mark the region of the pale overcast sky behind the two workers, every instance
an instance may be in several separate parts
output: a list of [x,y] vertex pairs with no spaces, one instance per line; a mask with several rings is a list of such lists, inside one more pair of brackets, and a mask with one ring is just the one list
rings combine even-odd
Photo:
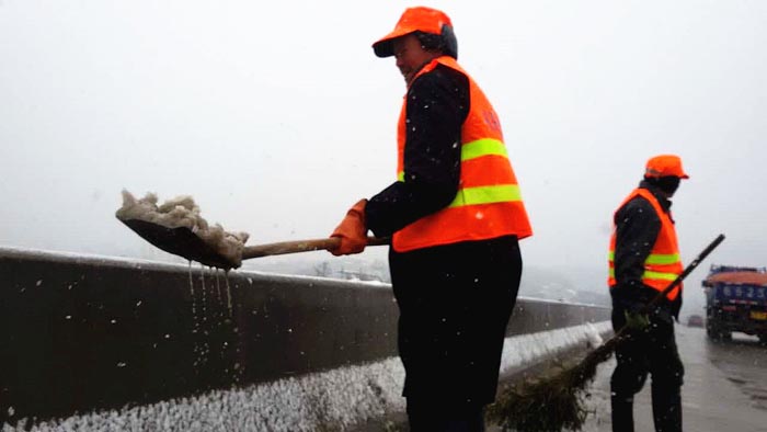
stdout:
[[[0,0],[0,246],[146,255],[122,189],[250,245],[327,236],[394,179],[404,82],[370,45],[414,4]],[[686,261],[724,232],[706,269],[767,265],[767,2],[424,4],[501,117],[526,264],[606,271],[613,212],[674,152]]]

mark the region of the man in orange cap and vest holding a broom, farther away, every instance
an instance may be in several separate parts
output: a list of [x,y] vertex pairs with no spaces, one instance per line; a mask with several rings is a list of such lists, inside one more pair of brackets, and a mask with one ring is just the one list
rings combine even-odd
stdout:
[[652,408],[656,431],[682,431],[684,367],[674,339],[674,319],[682,307],[682,285],[651,310],[649,305],[683,272],[669,198],[688,179],[674,155],[651,158],[644,180],[615,212],[608,285],[613,328],[628,326],[616,350],[610,380],[613,430],[633,431],[633,396],[652,374]]

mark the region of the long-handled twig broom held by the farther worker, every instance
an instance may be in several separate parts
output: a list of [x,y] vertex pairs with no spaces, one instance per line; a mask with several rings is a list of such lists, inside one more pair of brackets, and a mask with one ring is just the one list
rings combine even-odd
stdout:
[[[649,311],[666,294],[674,289],[714,248],[724,240],[719,235],[663,292],[659,293],[644,311]],[[586,420],[583,407],[585,386],[594,379],[596,368],[613,355],[628,331],[623,326],[618,332],[596,350],[589,352],[581,363],[570,368],[561,368],[558,374],[523,382],[503,389],[497,401],[486,410],[488,420],[499,424],[504,431],[557,432],[563,429],[577,431]]]

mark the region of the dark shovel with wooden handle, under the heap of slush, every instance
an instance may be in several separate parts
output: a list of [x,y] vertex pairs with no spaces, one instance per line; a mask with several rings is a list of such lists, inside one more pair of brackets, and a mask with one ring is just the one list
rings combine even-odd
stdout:
[[[141,219],[119,219],[141,238],[174,255],[190,261],[197,261],[224,270],[237,269],[242,260],[251,258],[279,255],[286,253],[330,250],[339,246],[341,239],[330,237],[312,240],[283,241],[277,243],[245,246],[239,260],[226,257],[206,243],[190,228],[168,228],[165,226]],[[388,238],[368,237],[368,246],[388,245]]]

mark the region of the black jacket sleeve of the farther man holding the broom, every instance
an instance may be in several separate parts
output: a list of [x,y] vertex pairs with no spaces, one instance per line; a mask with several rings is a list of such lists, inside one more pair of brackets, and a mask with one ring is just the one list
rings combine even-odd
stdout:
[[637,196],[616,212],[615,225],[616,286],[610,293],[618,305],[636,310],[656,293],[642,283],[642,273],[661,231],[661,219],[650,202]]

